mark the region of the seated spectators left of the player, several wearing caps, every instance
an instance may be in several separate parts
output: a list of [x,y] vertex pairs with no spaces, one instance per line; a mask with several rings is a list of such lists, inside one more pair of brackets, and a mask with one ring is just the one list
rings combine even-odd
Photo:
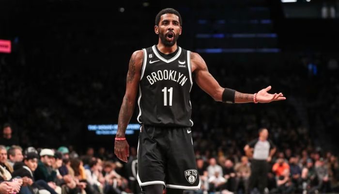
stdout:
[[66,146],[57,149],[30,146],[23,150],[12,145],[17,139],[12,136],[10,125],[4,126],[3,134],[0,139],[4,144],[0,146],[0,194],[138,193],[134,178],[136,163],[133,162],[136,152],[133,150],[130,162],[123,166],[105,150],[95,156],[93,148],[88,148],[81,156]]

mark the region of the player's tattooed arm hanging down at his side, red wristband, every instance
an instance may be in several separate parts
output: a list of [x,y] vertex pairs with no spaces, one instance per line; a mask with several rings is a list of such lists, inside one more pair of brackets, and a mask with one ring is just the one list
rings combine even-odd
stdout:
[[[133,115],[135,101],[138,92],[138,85],[140,81],[140,70],[142,67],[143,60],[143,51],[135,51],[128,65],[128,73],[126,79],[126,92],[123,97],[123,103],[120,108],[119,118],[118,118],[118,131],[116,138],[124,138],[125,131],[131,117]],[[115,140],[114,145],[115,155],[122,160],[127,162],[127,157],[129,156],[129,145],[126,140]]]

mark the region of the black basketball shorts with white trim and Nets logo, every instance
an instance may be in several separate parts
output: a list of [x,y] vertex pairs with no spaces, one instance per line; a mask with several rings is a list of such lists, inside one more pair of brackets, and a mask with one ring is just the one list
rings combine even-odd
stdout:
[[138,182],[183,190],[200,189],[190,128],[141,125],[138,145]]

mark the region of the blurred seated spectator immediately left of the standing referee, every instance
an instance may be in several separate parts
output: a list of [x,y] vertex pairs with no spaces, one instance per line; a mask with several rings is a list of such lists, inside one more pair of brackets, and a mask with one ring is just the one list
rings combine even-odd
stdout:
[[234,193],[238,193],[240,185],[243,186],[244,193],[247,193],[249,176],[251,175],[251,168],[248,163],[248,158],[246,156],[241,157],[241,162],[235,165],[234,170],[236,173]]

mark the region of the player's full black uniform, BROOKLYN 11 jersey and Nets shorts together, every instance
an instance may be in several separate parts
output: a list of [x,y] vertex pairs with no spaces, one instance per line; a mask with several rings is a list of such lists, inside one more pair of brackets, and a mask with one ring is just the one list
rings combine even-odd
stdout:
[[142,50],[137,118],[141,124],[139,185],[200,189],[190,129],[190,51],[178,47],[165,55],[155,45]]

